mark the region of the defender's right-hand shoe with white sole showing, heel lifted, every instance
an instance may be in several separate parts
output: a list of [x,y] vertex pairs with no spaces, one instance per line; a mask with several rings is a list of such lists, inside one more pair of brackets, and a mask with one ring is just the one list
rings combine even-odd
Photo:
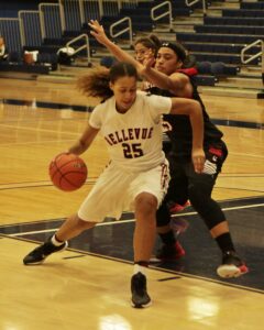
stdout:
[[222,264],[217,268],[218,275],[223,278],[239,277],[248,272],[245,263],[234,251],[223,253]]

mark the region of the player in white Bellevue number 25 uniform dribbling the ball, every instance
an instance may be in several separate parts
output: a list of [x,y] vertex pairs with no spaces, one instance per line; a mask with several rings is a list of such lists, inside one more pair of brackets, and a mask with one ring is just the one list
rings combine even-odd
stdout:
[[147,307],[145,270],[156,233],[156,210],[166,194],[169,172],[162,151],[162,114],[187,114],[193,128],[193,162],[204,168],[204,121],[197,101],[150,96],[136,91],[133,65],[119,63],[108,69],[91,70],[79,81],[87,96],[100,97],[79,141],[68,152],[82,154],[100,132],[106,140],[110,164],[98,178],[78,212],[69,217],[44,244],[28,254],[25,265],[40,264],[51,253],[67,248],[67,240],[103,221],[119,219],[122,211],[135,213],[134,275],[131,279],[132,306]]

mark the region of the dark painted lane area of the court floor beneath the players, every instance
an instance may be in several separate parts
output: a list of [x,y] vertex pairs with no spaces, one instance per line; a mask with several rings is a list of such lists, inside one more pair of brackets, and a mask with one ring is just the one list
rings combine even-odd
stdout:
[[[264,198],[248,198],[221,202],[229,219],[230,230],[239,254],[246,261],[250,273],[240,278],[222,279],[216,268],[221,262],[221,253],[202,220],[188,208],[182,219],[188,224],[179,235],[186,250],[186,256],[167,263],[156,263],[155,267],[170,273],[204,277],[222,284],[240,285],[248,289],[263,290],[263,251],[264,251]],[[133,215],[124,213],[123,221],[106,222],[86,231],[69,242],[69,248],[78,250],[80,255],[92,253],[102,257],[133,261],[132,240],[134,230]],[[40,221],[18,226],[0,227],[0,233],[21,239],[43,242],[63,220]],[[155,249],[158,249],[157,239]],[[63,257],[63,255],[62,255]],[[77,256],[78,257],[78,256]],[[172,277],[173,278],[173,277]]]

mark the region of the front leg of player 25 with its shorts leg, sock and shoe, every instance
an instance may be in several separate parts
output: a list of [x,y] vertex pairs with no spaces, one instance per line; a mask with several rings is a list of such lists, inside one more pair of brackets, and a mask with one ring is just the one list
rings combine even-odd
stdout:
[[131,195],[134,196],[135,213],[134,275],[131,278],[131,302],[135,308],[151,305],[146,288],[146,268],[156,237],[156,210],[167,190],[168,180],[168,166],[163,164],[139,175],[130,187]]

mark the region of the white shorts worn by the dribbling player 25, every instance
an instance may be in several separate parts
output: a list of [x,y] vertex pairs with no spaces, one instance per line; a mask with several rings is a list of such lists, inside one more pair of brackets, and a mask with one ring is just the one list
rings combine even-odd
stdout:
[[101,222],[106,217],[120,219],[123,211],[134,211],[134,199],[141,193],[154,195],[160,206],[168,182],[167,160],[142,173],[125,173],[110,164],[80,206],[78,217],[91,222]]

